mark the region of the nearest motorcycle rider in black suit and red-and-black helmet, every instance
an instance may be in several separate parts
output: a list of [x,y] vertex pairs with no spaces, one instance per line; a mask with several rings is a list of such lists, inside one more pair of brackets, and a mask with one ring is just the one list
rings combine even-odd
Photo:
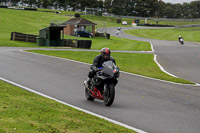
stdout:
[[93,64],[90,67],[91,70],[89,71],[88,79],[84,81],[84,83],[86,84],[87,87],[89,87],[90,81],[92,80],[92,78],[94,77],[96,72],[101,70],[101,69],[99,69],[99,67],[102,67],[102,64],[105,61],[111,60],[116,65],[115,59],[112,56],[110,56],[110,54],[111,54],[111,51],[109,48],[102,48],[101,54],[97,55],[94,58]]

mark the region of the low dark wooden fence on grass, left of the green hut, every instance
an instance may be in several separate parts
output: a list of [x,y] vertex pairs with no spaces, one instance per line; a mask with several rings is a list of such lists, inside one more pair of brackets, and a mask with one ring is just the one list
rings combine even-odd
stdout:
[[38,36],[31,35],[31,34],[19,33],[19,32],[11,32],[10,40],[36,43],[36,37],[38,37]]

